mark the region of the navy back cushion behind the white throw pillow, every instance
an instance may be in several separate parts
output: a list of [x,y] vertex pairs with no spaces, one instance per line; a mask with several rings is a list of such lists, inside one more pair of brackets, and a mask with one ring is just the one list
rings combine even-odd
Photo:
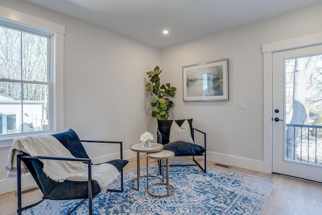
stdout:
[[[170,129],[172,125],[173,120],[157,120],[157,128],[159,129],[160,133],[162,134],[162,144],[169,143],[169,136],[170,136]],[[176,123],[179,127],[185,122],[185,120],[176,120]],[[192,119],[188,119],[188,123],[190,125],[190,132],[192,140],[194,140],[194,130],[192,127]]]

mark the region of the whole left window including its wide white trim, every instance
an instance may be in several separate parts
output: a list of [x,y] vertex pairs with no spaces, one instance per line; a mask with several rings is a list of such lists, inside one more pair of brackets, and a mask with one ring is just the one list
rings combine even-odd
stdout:
[[65,27],[1,6],[0,14],[0,141],[62,131]]

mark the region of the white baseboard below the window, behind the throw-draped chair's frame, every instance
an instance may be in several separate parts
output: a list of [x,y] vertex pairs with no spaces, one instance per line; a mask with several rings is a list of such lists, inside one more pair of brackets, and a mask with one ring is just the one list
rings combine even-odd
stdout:
[[[26,174],[21,177],[21,188],[36,185],[36,182],[31,174]],[[17,190],[17,178],[6,178],[0,180],[0,194]]]

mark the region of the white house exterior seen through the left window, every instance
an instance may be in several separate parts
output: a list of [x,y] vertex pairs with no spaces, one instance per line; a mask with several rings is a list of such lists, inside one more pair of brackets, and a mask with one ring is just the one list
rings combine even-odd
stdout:
[[[23,100],[23,110],[21,102],[0,94],[0,135],[47,129],[47,120],[42,117],[45,101]],[[23,119],[23,125],[20,119]]]

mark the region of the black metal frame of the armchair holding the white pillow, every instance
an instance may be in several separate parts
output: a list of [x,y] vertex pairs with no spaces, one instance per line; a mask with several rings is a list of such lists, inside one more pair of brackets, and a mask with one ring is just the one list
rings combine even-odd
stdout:
[[[193,130],[194,131],[197,131],[197,132],[200,132],[201,134],[203,134],[204,135],[204,146],[203,147],[205,147],[205,148],[207,148],[206,146],[207,146],[207,138],[206,138],[206,133],[205,132],[202,132],[202,131],[200,131],[200,130],[198,130],[198,129],[195,129],[195,128],[193,128]],[[160,130],[159,129],[156,129],[156,134],[157,134],[157,142],[158,143],[162,143],[162,134],[161,134],[161,132],[160,132]],[[196,164],[171,164],[171,165],[169,165],[169,166],[199,166],[200,167],[200,169],[204,172],[204,173],[206,173],[207,172],[207,154],[206,154],[206,152],[207,151],[205,151],[202,155],[175,155],[176,157],[187,157],[187,156],[192,156],[192,159],[193,159],[193,161],[196,163]],[[200,165],[200,163],[198,162],[198,161],[196,161],[196,159],[195,159],[195,156],[204,156],[204,165],[205,165],[205,167],[204,168],[202,168],[202,166]],[[161,160],[159,160],[158,161],[158,166],[159,166],[159,172],[160,172],[160,174],[161,174],[161,166],[162,166],[162,164],[161,164]]]

